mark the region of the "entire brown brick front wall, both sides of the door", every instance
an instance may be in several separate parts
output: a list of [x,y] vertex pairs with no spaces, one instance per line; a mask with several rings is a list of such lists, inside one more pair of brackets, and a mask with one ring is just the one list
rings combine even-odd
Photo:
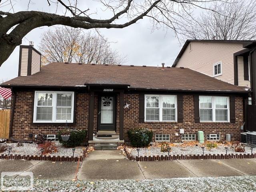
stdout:
[[[33,92],[17,92],[16,105],[14,113],[14,121],[12,127],[12,137],[22,140],[30,139],[28,134],[57,134],[64,126],[58,125],[33,125]],[[116,108],[116,130],[119,132],[119,107],[120,97],[117,95]],[[243,99],[236,97],[236,123],[218,123],[204,122],[194,123],[194,97],[185,95],[183,98],[183,123],[177,122],[138,122],[139,116],[139,95],[125,94],[124,102],[130,102],[129,110],[124,110],[124,138],[127,141],[127,130],[130,128],[145,127],[153,130],[154,134],[170,134],[172,142],[181,140],[180,136],[175,136],[179,133],[180,128],[184,128],[186,134],[195,134],[198,130],[204,131],[204,134],[221,134],[221,139],[224,140],[225,134],[234,134],[232,139],[240,139],[240,126],[243,124]],[[69,128],[88,129],[88,114],[89,114],[89,94],[78,93],[76,102],[76,125]],[[94,130],[97,130],[97,113],[98,113],[98,95],[94,98]],[[206,138],[206,137],[205,137]],[[154,138],[153,138],[154,140]]]

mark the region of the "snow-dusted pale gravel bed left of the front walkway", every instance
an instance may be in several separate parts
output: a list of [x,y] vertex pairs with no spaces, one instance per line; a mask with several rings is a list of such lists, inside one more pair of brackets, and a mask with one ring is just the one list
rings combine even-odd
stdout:
[[[19,155],[41,155],[40,149],[36,143],[23,143],[23,146],[17,146],[17,143],[7,143],[8,146],[12,146],[10,154]],[[59,142],[55,142],[58,152],[52,153],[51,156],[73,156],[72,148],[65,148]],[[8,154],[8,149],[3,154]],[[82,147],[76,147],[74,157],[81,156],[83,153]],[[0,153],[2,154],[2,153]]]

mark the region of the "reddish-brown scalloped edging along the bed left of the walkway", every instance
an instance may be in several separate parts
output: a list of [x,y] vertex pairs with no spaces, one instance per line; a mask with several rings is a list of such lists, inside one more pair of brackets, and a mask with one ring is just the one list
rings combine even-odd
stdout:
[[66,157],[66,156],[46,156],[46,155],[18,155],[18,154],[10,154],[4,155],[1,154],[0,159],[13,159],[13,160],[44,160],[44,161],[83,161],[84,155],[79,157]]

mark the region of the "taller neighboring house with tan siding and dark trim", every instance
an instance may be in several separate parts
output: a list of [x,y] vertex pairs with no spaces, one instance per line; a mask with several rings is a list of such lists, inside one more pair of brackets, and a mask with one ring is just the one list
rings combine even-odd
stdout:
[[[248,87],[252,95],[244,103],[256,104],[255,48],[255,41],[187,40],[172,67],[190,68],[230,84]],[[246,106],[244,108],[246,111]]]

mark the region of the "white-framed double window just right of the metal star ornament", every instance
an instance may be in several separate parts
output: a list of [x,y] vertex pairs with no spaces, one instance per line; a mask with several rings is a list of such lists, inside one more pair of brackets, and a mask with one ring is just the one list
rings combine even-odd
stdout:
[[145,121],[177,121],[176,95],[145,95]]

